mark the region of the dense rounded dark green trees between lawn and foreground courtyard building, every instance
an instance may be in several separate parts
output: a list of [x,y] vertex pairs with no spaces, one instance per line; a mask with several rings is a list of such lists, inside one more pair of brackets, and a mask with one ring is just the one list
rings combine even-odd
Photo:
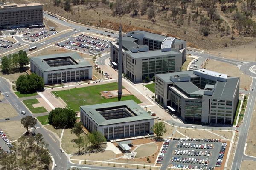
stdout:
[[69,128],[76,123],[76,113],[67,108],[55,108],[49,113],[49,123],[54,127]]

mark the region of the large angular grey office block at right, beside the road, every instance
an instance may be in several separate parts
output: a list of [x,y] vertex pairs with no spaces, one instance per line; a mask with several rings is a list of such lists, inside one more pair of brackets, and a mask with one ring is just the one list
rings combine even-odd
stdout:
[[181,119],[232,124],[239,102],[239,77],[206,69],[157,74],[155,97]]

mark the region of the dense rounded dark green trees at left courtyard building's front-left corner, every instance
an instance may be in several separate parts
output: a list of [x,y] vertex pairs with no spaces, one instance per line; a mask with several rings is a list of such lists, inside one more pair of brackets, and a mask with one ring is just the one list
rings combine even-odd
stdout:
[[44,81],[42,77],[34,73],[30,75],[21,75],[16,81],[16,89],[22,94],[42,91],[44,90]]

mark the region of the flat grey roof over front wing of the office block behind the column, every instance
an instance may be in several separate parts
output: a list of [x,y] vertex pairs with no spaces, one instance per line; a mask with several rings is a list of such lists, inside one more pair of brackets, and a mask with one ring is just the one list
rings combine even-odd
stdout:
[[151,51],[142,51],[142,52],[136,52],[133,53],[131,51],[125,51],[127,54],[129,54],[133,58],[144,58],[144,57],[160,57],[165,55],[176,55],[181,54],[179,51],[177,51],[175,48],[172,48],[171,51],[162,52],[160,50],[151,50]]

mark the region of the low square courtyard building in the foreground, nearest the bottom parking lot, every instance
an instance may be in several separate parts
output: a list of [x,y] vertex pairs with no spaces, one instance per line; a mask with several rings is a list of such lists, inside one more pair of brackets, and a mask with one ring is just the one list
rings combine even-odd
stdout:
[[154,118],[133,100],[81,106],[80,111],[87,130],[99,131],[106,139],[152,133]]

